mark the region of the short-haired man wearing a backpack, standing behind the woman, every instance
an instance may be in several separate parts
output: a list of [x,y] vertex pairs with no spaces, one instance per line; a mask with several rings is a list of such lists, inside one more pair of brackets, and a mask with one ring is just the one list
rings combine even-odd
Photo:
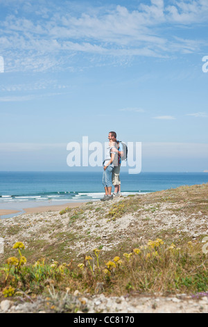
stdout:
[[116,132],[110,131],[112,141],[117,143],[117,149],[114,150],[118,155],[114,159],[114,168],[112,170],[112,184],[114,185],[113,196],[121,196],[121,180],[120,180],[120,168],[121,157],[123,157],[123,145],[116,140]]

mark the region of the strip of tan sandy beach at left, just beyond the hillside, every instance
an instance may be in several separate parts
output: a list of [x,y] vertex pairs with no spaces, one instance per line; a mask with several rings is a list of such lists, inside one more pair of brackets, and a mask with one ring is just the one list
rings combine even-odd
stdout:
[[[36,214],[40,212],[60,212],[62,209],[66,207],[74,208],[83,205],[83,202],[69,202],[64,203],[64,205],[49,205],[43,207],[32,207],[32,208],[23,208],[26,214]],[[10,210],[10,209],[0,209],[0,216],[6,216],[9,214],[17,214],[21,212],[21,210]]]

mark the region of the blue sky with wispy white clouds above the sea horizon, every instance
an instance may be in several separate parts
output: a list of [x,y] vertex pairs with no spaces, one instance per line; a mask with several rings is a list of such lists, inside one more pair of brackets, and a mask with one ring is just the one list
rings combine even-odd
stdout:
[[0,170],[92,170],[67,144],[109,131],[208,170],[207,26],[207,0],[0,0]]

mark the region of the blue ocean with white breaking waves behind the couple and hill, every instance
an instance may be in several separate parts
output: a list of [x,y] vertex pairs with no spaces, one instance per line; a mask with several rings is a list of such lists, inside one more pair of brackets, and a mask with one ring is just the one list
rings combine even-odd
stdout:
[[[121,171],[120,178],[121,193],[128,196],[207,183],[208,173],[129,175]],[[102,172],[0,172],[0,209],[22,211],[28,207],[100,200],[103,194]]]

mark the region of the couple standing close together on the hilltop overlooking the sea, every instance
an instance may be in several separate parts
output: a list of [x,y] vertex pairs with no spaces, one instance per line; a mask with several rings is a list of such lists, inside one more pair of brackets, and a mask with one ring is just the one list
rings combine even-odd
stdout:
[[[105,160],[103,161],[103,186],[105,196],[101,201],[112,200],[114,196],[121,195],[121,181],[119,177],[121,167],[121,157],[123,157],[123,145],[116,140],[116,132],[110,131],[108,134],[109,143],[105,148]],[[112,192],[114,185],[114,193]]]

